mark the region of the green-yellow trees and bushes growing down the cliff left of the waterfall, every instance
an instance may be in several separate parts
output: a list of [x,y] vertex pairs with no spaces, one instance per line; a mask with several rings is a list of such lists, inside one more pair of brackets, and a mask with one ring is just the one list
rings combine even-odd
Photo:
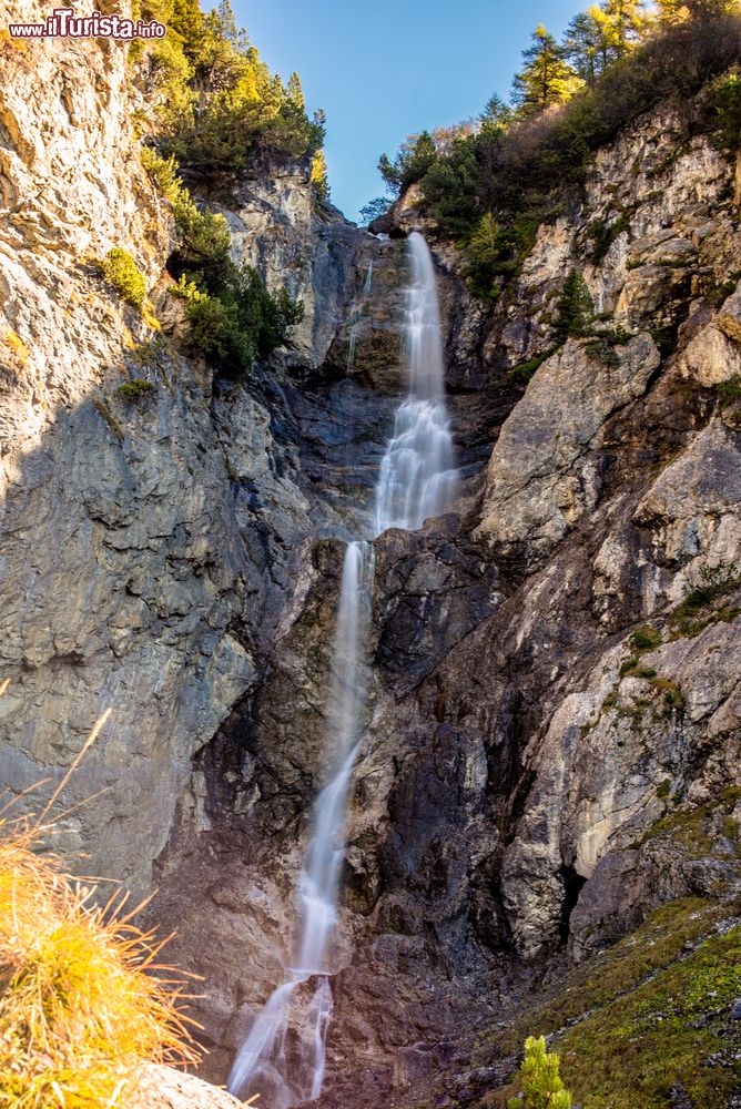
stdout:
[[199,206],[180,174],[213,183],[244,174],[261,156],[307,159],[314,193],[326,200],[324,118],[308,119],[297,74],[284,85],[270,73],[229,0],[205,13],[199,0],[135,0],[135,8],[168,26],[165,39],[132,49],[151,105],[139,122],[158,147],[145,146],[142,161],[171,202],[179,234],[169,269],[185,303],[187,342],[221,376],[240,380],[255,358],[290,344],[303,307],[232,261],[226,221]]

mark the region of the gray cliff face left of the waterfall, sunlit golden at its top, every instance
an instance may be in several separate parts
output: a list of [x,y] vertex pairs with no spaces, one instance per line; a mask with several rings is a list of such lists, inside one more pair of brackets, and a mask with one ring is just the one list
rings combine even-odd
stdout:
[[[367,496],[362,475],[334,499],[316,489],[323,467],[341,485],[345,411],[380,428],[388,404],[349,381],[298,394],[288,374],[324,360],[363,250],[380,244],[316,210],[305,166],[245,183],[235,253],[306,299],[306,329],[250,390],[214,395],[210,372],[179,354],[162,276],[172,220],[141,167],[121,52],[58,42],[38,65],[20,48],[6,62],[0,781],[20,792],[59,777],[111,708],[65,795],[84,804],[63,841],[139,895],[193,756],[295,618],[304,539],[354,526]],[[162,335],[98,276],[112,246],[145,274]],[[152,393],[122,399],[134,377]],[[369,446],[380,450],[373,431]]]

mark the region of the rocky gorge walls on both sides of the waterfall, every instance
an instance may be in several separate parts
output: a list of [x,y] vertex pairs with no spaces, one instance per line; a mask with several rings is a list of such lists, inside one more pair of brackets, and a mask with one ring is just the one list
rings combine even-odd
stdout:
[[[317,203],[307,166],[256,169],[222,207],[235,256],[306,316],[244,386],[214,383],[169,292],[172,218],[121,48],[42,49],[2,42],[0,781],[59,777],[113,708],[60,846],[159,887],[223,1081],[288,952],[338,540],[363,527],[402,387],[404,245]],[[672,898],[732,914],[734,174],[672,112],[640,121],[494,308],[433,243],[460,511],[376,543],[322,1105],[418,1105],[445,1074],[473,1102],[471,1036],[544,975]],[[420,224],[414,196],[396,220]],[[615,232],[598,261],[596,222]],[[159,330],[98,275],[111,246],[146,275]],[[552,348],[572,269],[603,335],[522,390],[510,370]],[[153,394],[123,400],[142,376]]]

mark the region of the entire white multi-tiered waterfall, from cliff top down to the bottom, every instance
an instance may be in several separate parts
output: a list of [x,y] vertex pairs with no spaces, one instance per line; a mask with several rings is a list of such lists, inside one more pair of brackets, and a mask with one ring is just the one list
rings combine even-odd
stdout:
[[[435,268],[422,235],[408,240],[408,395],[396,413],[380,466],[375,535],[414,529],[445,511],[455,492],[453,438],[445,405],[443,342]],[[370,292],[368,269],[364,299]],[[332,940],[345,847],[347,794],[363,739],[375,552],[347,543],[332,651],[326,736],[327,784],[314,805],[312,834],[298,879],[301,933],[294,966],[256,1017],[230,1075],[232,1093],[260,1092],[265,1109],[291,1109],[322,1092],[332,1019]],[[262,1105],[261,1100],[261,1105]]]

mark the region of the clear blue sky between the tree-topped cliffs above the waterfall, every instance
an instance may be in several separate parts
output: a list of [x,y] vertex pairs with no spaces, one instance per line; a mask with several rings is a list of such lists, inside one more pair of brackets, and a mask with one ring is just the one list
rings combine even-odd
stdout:
[[[542,22],[560,34],[579,0],[232,0],[274,71],[296,70],[327,113],[332,200],[349,218],[383,192],[378,155],[409,133],[478,114],[507,95]],[[209,4],[210,7],[210,4]]]

